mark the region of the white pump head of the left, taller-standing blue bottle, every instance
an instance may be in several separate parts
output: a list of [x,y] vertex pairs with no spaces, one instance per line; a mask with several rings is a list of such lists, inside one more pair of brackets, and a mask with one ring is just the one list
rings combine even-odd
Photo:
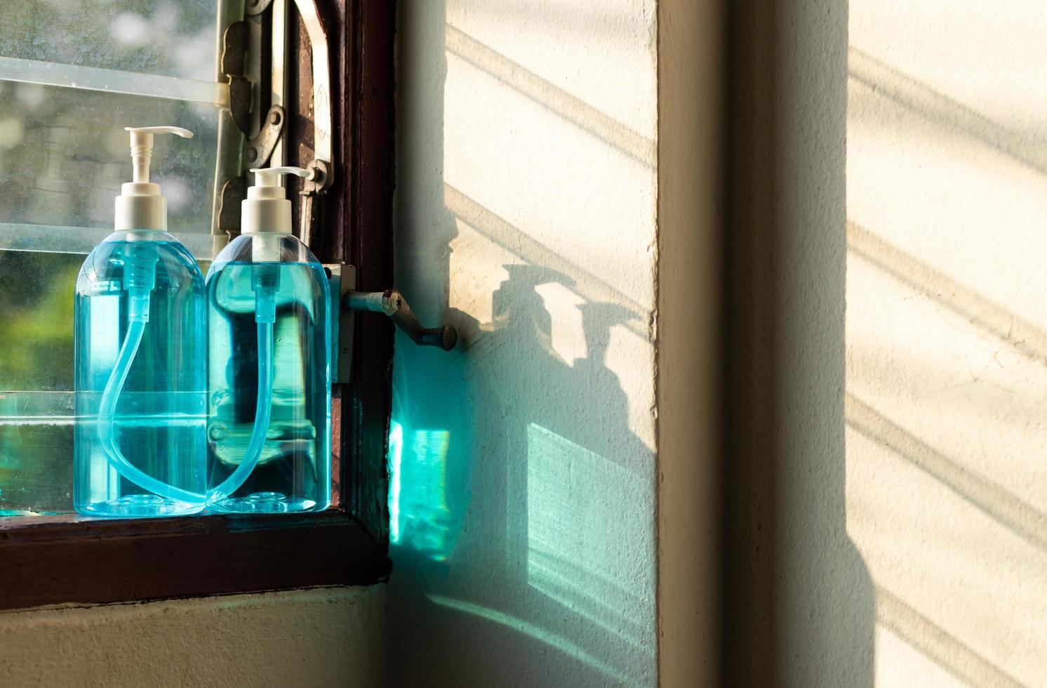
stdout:
[[153,134],[176,134],[193,138],[193,132],[181,127],[125,127],[131,132],[133,181],[120,186],[116,197],[116,231],[168,228],[168,201],[160,196],[160,185],[149,181],[149,163],[153,157]]

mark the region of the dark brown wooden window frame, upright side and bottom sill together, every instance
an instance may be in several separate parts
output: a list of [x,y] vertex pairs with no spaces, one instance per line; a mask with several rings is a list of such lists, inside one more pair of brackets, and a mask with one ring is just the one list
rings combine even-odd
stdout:
[[[332,56],[336,181],[317,254],[357,267],[357,289],[392,286],[395,3],[318,0]],[[308,40],[289,24],[288,151],[310,159]],[[297,125],[295,125],[297,123]],[[389,572],[385,444],[393,325],[356,314],[353,383],[333,398],[334,507],[319,514],[92,520],[0,519],[0,609],[65,602],[364,585]]]

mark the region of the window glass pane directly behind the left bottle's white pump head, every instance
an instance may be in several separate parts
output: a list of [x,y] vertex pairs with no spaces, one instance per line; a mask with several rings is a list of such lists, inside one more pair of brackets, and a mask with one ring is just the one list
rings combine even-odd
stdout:
[[155,138],[151,181],[168,199],[171,231],[210,232],[214,105],[0,81],[0,247],[39,231],[9,225],[112,230],[113,198],[131,181],[124,127],[146,125],[194,132]]

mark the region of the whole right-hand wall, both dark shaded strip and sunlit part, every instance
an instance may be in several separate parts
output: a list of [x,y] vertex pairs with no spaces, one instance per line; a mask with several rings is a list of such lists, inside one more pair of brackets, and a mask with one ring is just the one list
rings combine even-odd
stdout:
[[729,674],[1044,685],[1047,13],[731,25]]

